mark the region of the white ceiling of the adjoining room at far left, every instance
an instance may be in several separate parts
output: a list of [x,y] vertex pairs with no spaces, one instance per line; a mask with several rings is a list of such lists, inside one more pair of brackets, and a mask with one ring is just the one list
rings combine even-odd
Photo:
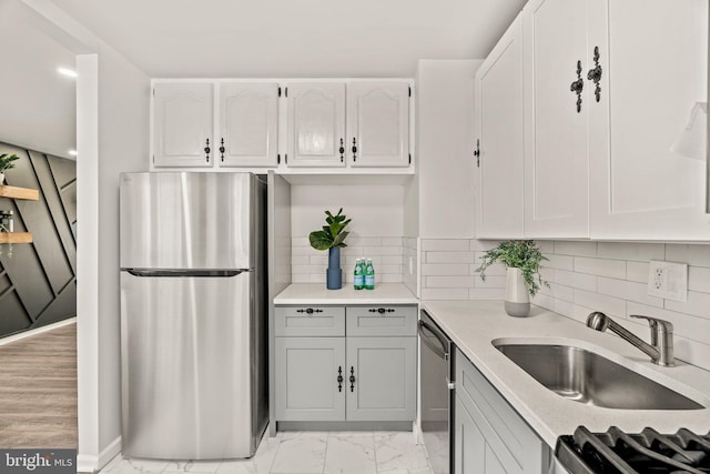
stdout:
[[0,141],[58,157],[75,149],[74,53],[33,27],[20,0],[0,1]]

